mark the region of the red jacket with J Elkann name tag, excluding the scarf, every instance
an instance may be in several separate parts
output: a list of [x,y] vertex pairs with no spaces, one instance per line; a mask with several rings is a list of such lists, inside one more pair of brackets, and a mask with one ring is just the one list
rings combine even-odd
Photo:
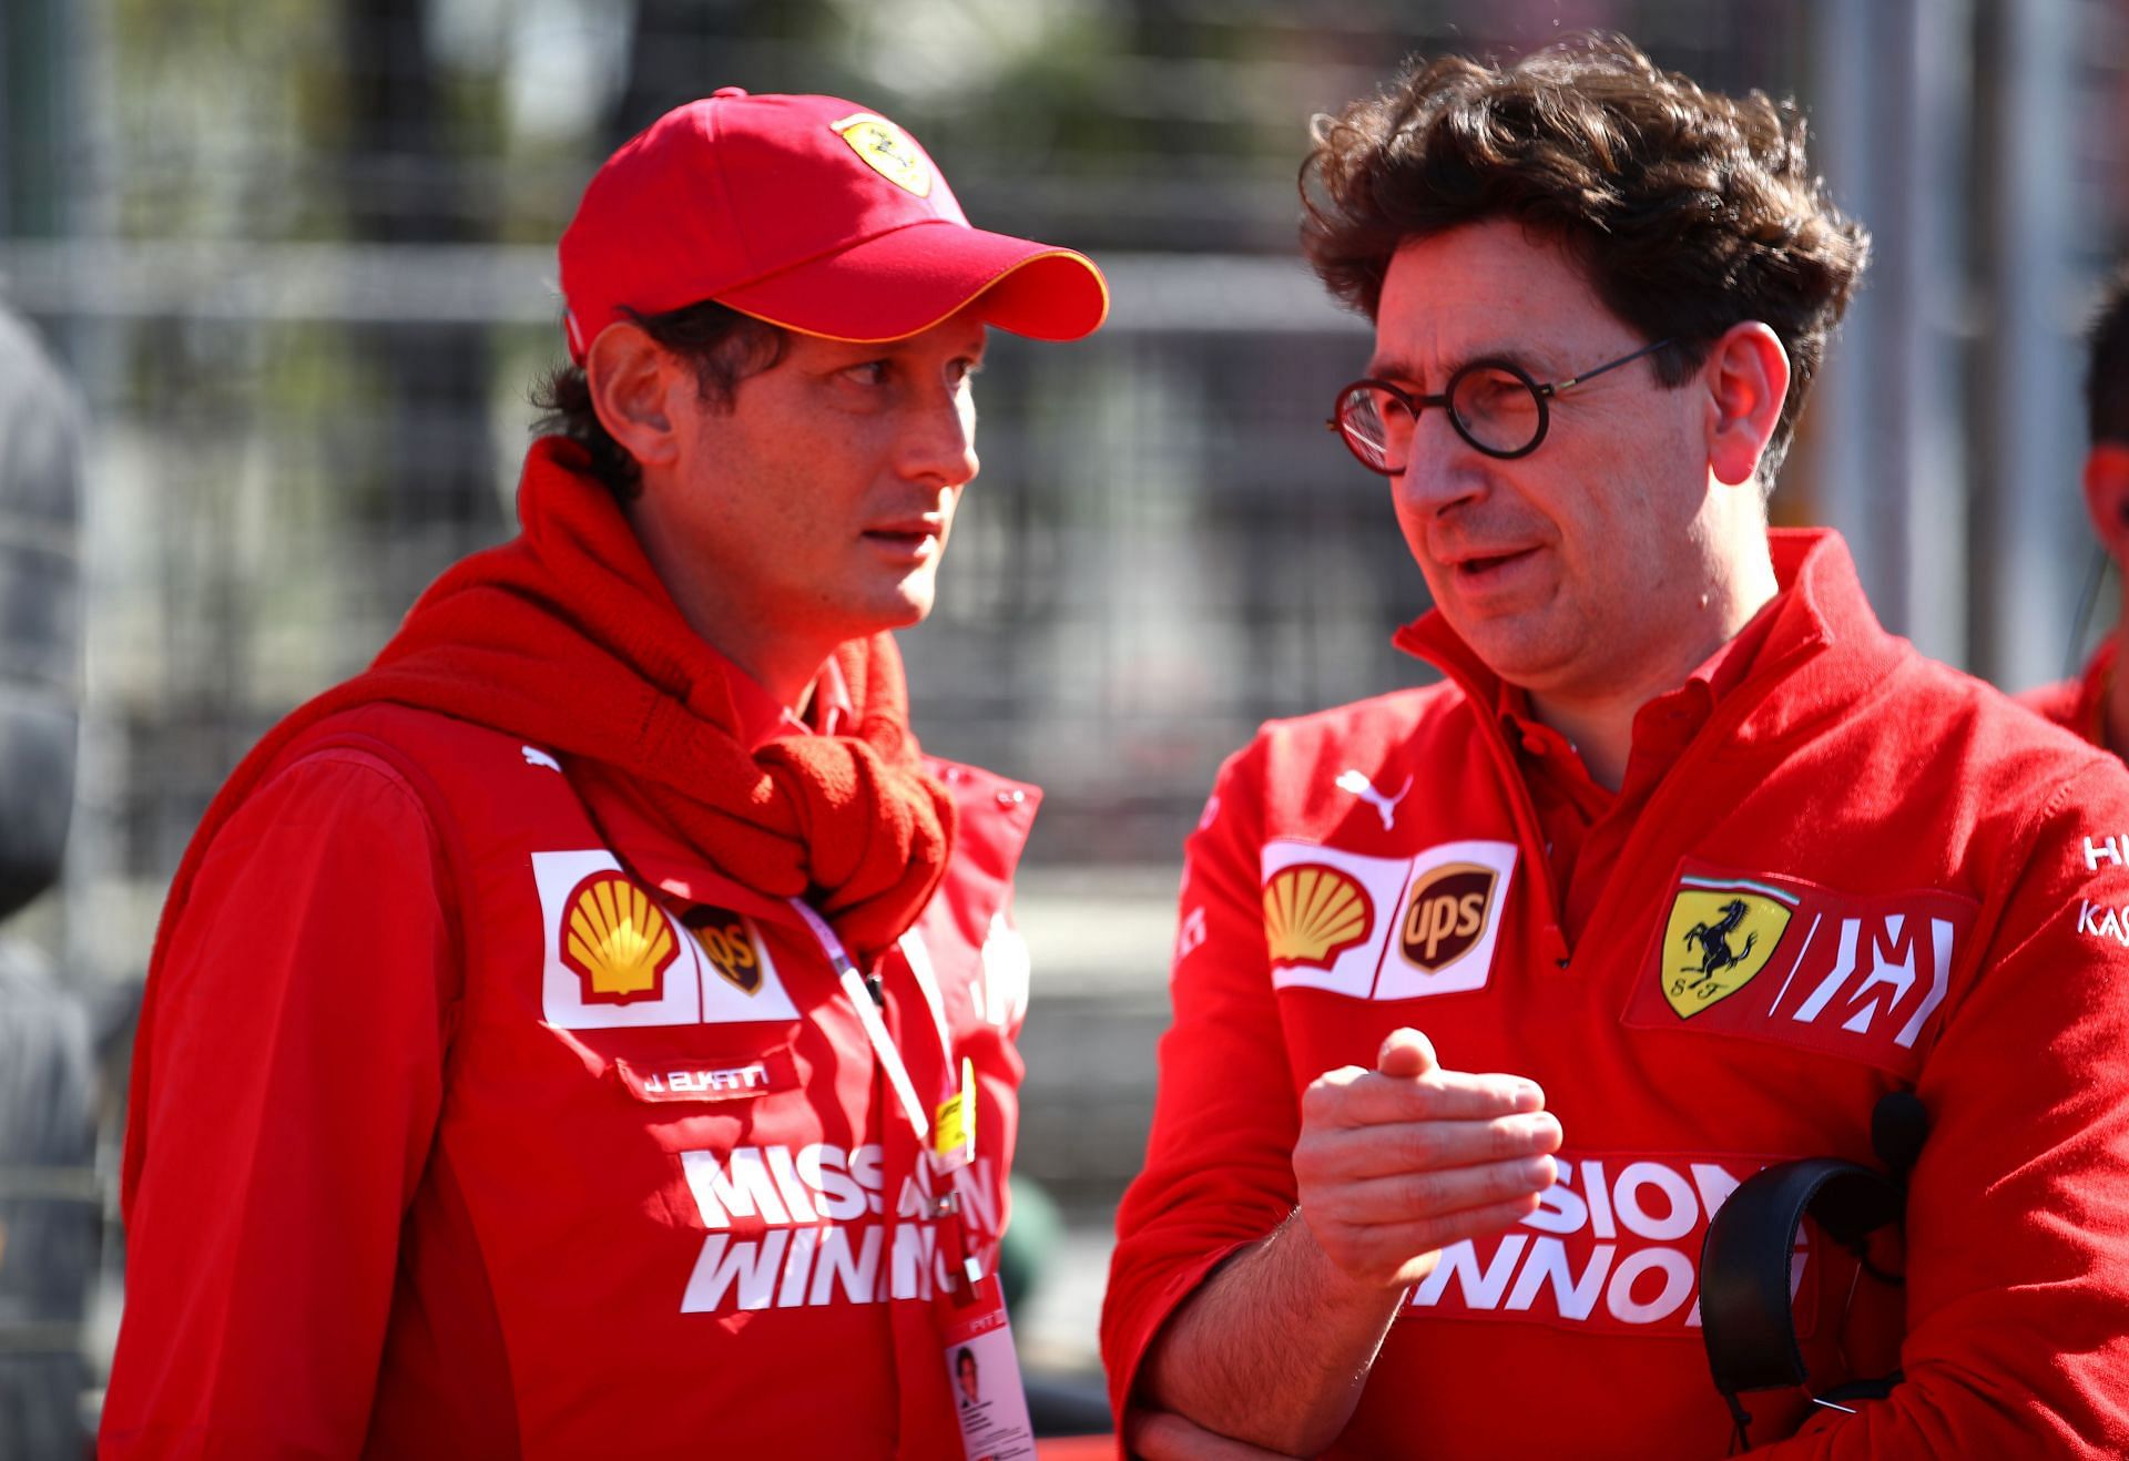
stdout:
[[[988,1254],[1037,792],[935,771],[954,860],[881,973],[924,1101],[973,1065]],[[798,916],[628,786],[428,711],[326,720],[215,839],[164,975],[104,1455],[958,1455],[873,1048]]]

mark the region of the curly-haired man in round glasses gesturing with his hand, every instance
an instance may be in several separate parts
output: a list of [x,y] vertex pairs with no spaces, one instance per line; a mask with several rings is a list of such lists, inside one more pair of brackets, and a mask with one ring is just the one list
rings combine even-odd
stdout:
[[1744,1440],[2123,1452],[2129,779],[1767,530],[1867,253],[1801,121],[1569,43],[1414,68],[1303,185],[1446,682],[1267,726],[1190,837],[1128,1442],[1722,1455],[1710,1214],[1914,1093],[1905,1284],[1778,1237],[1812,1384]]

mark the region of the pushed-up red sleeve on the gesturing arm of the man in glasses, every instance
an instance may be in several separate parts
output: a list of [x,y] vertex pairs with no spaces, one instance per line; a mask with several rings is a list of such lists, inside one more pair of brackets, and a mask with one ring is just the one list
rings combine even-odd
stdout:
[[1160,1039],[1145,1167],[1118,1208],[1101,1314],[1118,1416],[1169,1314],[1294,1210],[1301,1112],[1265,954],[1254,769],[1252,752],[1222,767],[1186,843],[1175,1018]]

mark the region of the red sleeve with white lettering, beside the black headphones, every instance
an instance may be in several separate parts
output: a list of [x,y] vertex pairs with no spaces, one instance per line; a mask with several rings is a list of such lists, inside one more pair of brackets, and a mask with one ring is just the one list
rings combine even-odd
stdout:
[[2129,1455],[2129,777],[2050,792],[1916,1086],[1905,1380],[1769,1455]]

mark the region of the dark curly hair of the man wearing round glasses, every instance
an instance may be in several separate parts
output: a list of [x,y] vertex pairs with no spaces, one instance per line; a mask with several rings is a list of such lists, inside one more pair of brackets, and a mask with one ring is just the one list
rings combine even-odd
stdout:
[[1597,298],[1682,385],[1742,319],[1788,351],[1771,483],[1827,332],[1869,258],[1803,158],[1803,117],[1763,92],[1703,92],[1624,36],[1580,36],[1514,66],[1412,62],[1382,94],[1316,117],[1301,243],[1324,285],[1375,317],[1397,247],[1484,219],[1556,239]]

